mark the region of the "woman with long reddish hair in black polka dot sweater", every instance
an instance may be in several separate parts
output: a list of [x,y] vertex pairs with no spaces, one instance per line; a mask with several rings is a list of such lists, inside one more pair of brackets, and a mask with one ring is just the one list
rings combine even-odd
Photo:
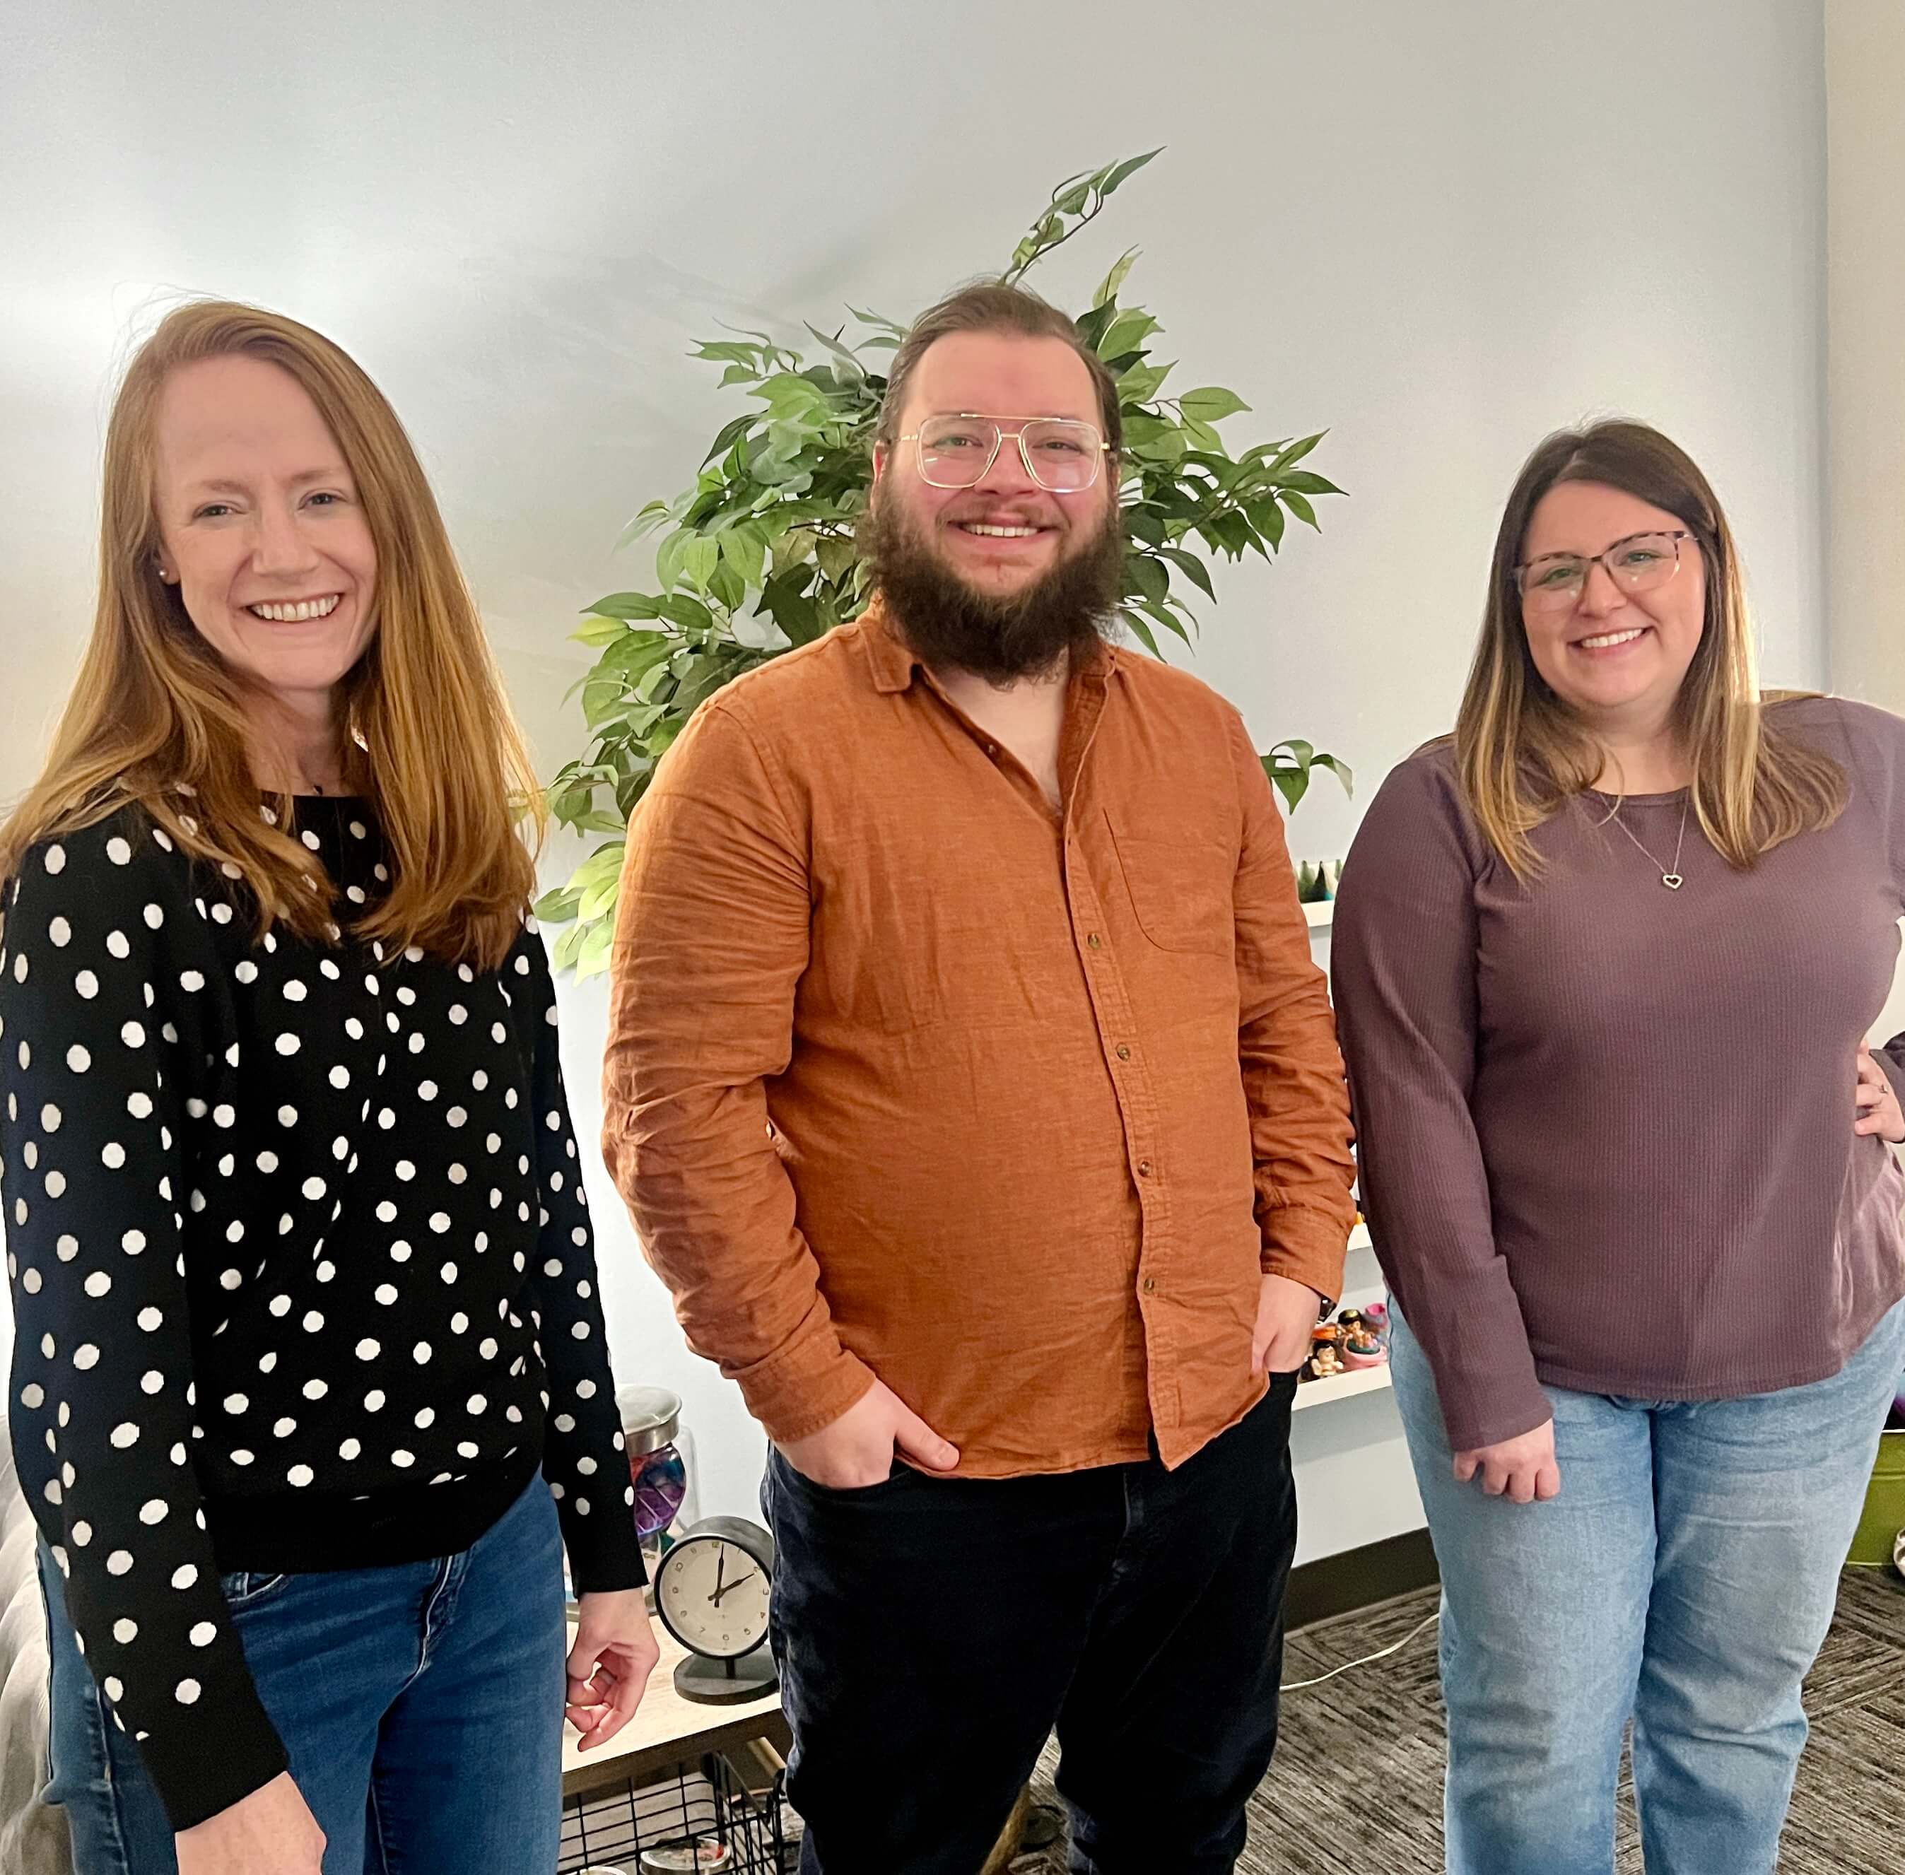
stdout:
[[381,393],[171,312],[0,829],[10,1420],[82,1869],[552,1869],[564,1707],[596,1744],[640,1698],[528,798]]

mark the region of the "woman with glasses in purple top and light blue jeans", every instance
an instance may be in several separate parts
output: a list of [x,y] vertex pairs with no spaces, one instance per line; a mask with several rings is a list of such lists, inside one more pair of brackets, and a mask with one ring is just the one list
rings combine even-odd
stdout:
[[1755,682],[1699,469],[1509,497],[1455,734],[1343,869],[1337,1016],[1442,1566],[1448,1865],[1774,1867],[1905,1362],[1905,724]]

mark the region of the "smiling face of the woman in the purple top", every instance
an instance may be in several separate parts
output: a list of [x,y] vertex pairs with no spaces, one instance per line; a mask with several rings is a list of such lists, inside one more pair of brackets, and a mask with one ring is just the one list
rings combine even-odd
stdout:
[[[1686,522],[1600,482],[1556,482],[1535,505],[1522,564],[1547,554],[1606,553],[1642,534],[1684,532]],[[1549,610],[1522,598],[1528,652],[1549,690],[1591,730],[1655,732],[1699,650],[1707,572],[1697,541],[1678,543],[1673,577],[1631,591],[1591,566],[1575,604]]]

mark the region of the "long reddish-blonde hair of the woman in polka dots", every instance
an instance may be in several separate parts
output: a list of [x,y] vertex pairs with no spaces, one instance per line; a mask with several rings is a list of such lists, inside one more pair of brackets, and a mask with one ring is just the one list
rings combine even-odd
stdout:
[[396,412],[337,345],[223,299],[170,312],[112,402],[91,640],[46,768],[0,827],[0,880],[34,840],[137,802],[192,857],[238,869],[259,932],[282,920],[335,936],[333,894],[293,837],[291,800],[263,802],[272,819],[259,812],[255,701],[158,577],[160,394],[181,366],[232,354],[278,366],[318,406],[377,551],[377,629],[339,703],[349,779],[375,802],[392,884],[354,930],[493,968],[535,884],[518,823],[539,833],[541,796],[436,497]]

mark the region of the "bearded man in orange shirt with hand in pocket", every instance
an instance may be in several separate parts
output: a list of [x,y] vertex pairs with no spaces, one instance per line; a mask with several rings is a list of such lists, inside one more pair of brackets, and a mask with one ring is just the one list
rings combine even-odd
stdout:
[[634,816],[604,1151],[770,1444],[806,1875],[1229,1871],[1349,1103],[1236,711],[1111,642],[1118,393],[1012,286],[893,354],[850,625]]

